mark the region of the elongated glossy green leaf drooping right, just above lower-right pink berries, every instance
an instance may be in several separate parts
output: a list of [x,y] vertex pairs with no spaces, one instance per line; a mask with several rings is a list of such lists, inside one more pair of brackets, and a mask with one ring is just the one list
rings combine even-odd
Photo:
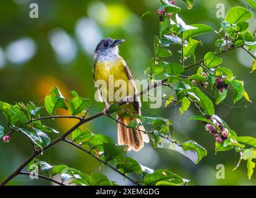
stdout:
[[191,98],[194,98],[196,103],[198,103],[209,116],[214,114],[213,102],[198,87],[183,90],[182,92],[186,92]]

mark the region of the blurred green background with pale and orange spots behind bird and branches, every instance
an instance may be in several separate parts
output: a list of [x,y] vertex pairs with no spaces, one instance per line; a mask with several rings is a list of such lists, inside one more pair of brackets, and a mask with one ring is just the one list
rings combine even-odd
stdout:
[[[39,5],[39,19],[30,19],[29,5]],[[207,24],[219,30],[221,21],[216,17],[216,5],[222,3],[225,12],[234,6],[245,6],[244,1],[195,0],[193,9],[186,9],[186,4],[176,0],[182,8],[180,17],[186,24]],[[82,97],[91,98],[93,105],[90,113],[104,108],[102,103],[94,100],[95,88],[92,78],[93,51],[99,40],[104,37],[124,38],[126,42],[120,46],[121,56],[126,60],[134,79],[147,79],[144,75],[153,56],[153,35],[158,34],[158,17],[155,15],[140,16],[148,10],[156,10],[158,0],[1,0],[0,1],[0,100],[14,104],[17,101],[34,101],[43,105],[45,95],[50,88],[57,85],[63,95],[71,98],[70,90],[76,90]],[[249,8],[249,7],[248,7]],[[250,8],[249,8],[250,9]],[[250,22],[250,30],[255,28],[255,20]],[[198,46],[196,58],[203,58],[208,51],[214,51],[214,42],[218,35],[214,32],[198,37],[203,46]],[[178,48],[171,48],[173,52]],[[178,53],[170,58],[178,61]],[[252,58],[242,49],[221,55],[226,66],[237,75],[237,79],[245,81],[245,88],[250,99],[256,102],[256,74],[250,74]],[[192,74],[195,70],[188,71]],[[232,103],[232,93],[224,103],[216,107],[216,114],[242,136],[256,137],[256,105],[248,105],[244,99]],[[164,105],[163,105],[164,106]],[[129,152],[127,155],[137,159],[142,165],[153,170],[168,168],[183,178],[190,179],[190,185],[255,185],[256,173],[247,179],[246,165],[235,171],[239,155],[234,150],[214,154],[214,139],[204,131],[204,126],[187,119],[194,113],[192,107],[180,116],[180,105],[168,108],[150,109],[149,103],[143,103],[144,116],[162,116],[173,121],[171,132],[180,142],[196,140],[208,150],[208,156],[198,165],[194,165],[183,155],[167,149],[153,149],[152,144],[145,145],[140,152]],[[245,107],[246,106],[246,107]],[[68,114],[59,111],[58,114]],[[6,121],[0,118],[2,126]],[[53,120],[45,124],[55,127],[60,133],[69,129],[75,121]],[[116,124],[107,118],[98,118],[86,124],[96,134],[106,134],[114,140]],[[50,134],[51,139],[57,137]],[[22,134],[14,134],[9,144],[0,143],[0,180],[17,168],[32,152],[30,142]],[[43,156],[39,157],[51,165],[66,164],[78,168],[85,173],[102,171],[109,179],[119,184],[130,184],[121,176],[98,161],[74,149],[65,143],[58,144]],[[225,179],[216,179],[216,165],[225,166]],[[43,180],[31,181],[27,176],[17,176],[8,184],[40,185],[50,184]]]

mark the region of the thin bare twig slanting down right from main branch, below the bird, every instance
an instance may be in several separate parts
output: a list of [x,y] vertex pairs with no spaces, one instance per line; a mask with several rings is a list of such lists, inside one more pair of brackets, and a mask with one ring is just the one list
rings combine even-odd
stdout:
[[126,174],[122,173],[121,171],[119,171],[117,168],[115,168],[114,166],[110,165],[109,163],[107,163],[107,161],[101,160],[101,158],[97,157],[96,155],[93,155],[93,153],[89,152],[86,149],[83,149],[83,147],[80,147],[80,145],[75,144],[74,142],[71,142],[70,140],[64,139],[64,142],[73,145],[74,147],[82,150],[83,152],[91,155],[91,157],[96,158],[96,160],[101,161],[101,163],[103,163],[104,165],[108,166],[109,168],[111,168],[112,170],[116,171],[117,173],[121,174],[124,178],[128,179],[129,181],[131,181],[132,183],[134,183],[137,186],[140,186],[139,183],[135,182],[133,179],[129,178],[129,176],[127,176]]

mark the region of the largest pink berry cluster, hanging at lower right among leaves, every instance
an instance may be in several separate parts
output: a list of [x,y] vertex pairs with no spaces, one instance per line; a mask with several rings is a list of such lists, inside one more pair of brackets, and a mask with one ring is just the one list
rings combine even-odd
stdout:
[[217,123],[216,119],[214,119],[213,117],[210,117],[209,119],[214,123],[216,127],[219,127],[219,129],[221,129],[221,133],[217,131],[215,126],[212,126],[209,123],[204,123],[206,124],[205,130],[208,131],[210,134],[213,134],[216,142],[221,144],[227,139],[227,129],[225,129],[222,124]]

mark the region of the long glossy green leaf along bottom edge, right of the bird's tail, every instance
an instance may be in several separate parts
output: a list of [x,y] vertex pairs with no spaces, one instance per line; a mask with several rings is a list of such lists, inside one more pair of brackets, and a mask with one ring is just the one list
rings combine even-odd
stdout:
[[144,183],[146,186],[154,186],[160,181],[168,181],[178,185],[186,183],[185,179],[182,179],[177,174],[171,173],[171,171],[166,169],[160,169],[151,174],[147,174],[144,179],[140,180],[140,182]]

